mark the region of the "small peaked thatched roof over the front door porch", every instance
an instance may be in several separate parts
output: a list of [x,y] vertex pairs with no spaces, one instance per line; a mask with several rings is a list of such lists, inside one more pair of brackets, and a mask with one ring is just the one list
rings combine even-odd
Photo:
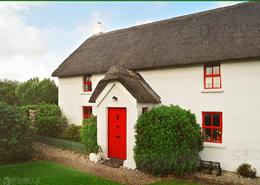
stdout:
[[89,99],[90,103],[95,103],[96,99],[109,82],[120,82],[140,103],[161,102],[160,96],[156,94],[139,73],[132,70],[126,70],[120,66],[112,66],[93,91]]

